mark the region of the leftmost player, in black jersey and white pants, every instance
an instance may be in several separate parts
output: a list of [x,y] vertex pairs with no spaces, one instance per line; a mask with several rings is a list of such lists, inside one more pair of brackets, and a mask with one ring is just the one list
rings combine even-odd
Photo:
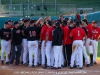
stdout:
[[11,50],[11,29],[9,23],[5,22],[4,28],[1,29],[1,64],[4,64],[4,52],[6,51],[6,64],[9,64],[8,55]]

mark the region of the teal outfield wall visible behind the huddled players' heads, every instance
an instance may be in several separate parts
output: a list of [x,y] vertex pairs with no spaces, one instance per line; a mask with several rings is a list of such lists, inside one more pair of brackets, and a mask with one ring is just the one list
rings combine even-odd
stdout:
[[[32,19],[38,19],[40,16],[34,16],[34,17],[31,17]],[[72,19],[75,19],[75,16],[64,16],[65,18],[68,18],[68,17],[71,17]],[[0,28],[2,28],[4,26],[4,22],[11,19],[13,21],[17,21],[19,20],[20,18],[22,17],[1,17],[0,18]],[[58,16],[52,16],[52,19],[58,19],[59,17]],[[84,18],[84,15],[81,15],[81,19]],[[96,20],[98,22],[98,25],[100,25],[100,11],[98,12],[94,12],[94,13],[89,13],[87,15],[87,19],[89,22],[92,22],[93,20]]]

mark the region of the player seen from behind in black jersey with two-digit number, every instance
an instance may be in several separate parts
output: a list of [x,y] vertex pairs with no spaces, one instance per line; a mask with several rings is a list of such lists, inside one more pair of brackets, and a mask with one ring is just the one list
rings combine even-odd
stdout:
[[26,28],[25,35],[27,36],[28,41],[28,50],[29,50],[29,65],[28,67],[33,66],[33,55],[34,55],[34,67],[37,67],[37,54],[38,54],[38,33],[37,27],[34,26],[34,21],[30,21],[30,26]]

